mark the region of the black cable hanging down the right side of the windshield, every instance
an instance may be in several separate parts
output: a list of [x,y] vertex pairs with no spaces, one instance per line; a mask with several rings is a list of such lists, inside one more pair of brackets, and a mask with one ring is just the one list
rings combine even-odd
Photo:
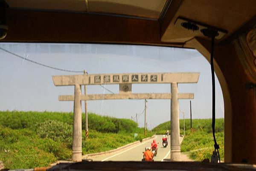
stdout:
[[[215,138],[215,75],[214,75],[214,65],[213,65],[213,52],[214,52],[214,38],[212,37],[212,46],[211,46],[211,71],[212,71],[212,135],[214,139],[214,149],[215,151],[219,149],[219,145]],[[220,154],[218,151],[219,162],[221,162]]]

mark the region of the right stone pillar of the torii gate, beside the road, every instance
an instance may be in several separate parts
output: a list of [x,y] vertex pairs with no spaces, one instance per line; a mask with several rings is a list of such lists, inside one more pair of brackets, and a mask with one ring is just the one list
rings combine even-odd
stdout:
[[171,161],[180,161],[180,119],[178,85],[171,84]]

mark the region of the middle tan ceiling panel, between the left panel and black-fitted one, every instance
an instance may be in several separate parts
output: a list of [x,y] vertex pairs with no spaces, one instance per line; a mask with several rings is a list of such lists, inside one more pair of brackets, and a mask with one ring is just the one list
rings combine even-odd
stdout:
[[158,19],[166,0],[88,0],[90,12]]

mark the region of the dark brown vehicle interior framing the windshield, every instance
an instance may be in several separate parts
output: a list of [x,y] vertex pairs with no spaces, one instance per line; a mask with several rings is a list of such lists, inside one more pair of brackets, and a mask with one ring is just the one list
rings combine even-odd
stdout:
[[214,61],[225,108],[223,163],[82,161],[49,171],[256,170],[255,0],[0,0],[0,7],[0,43],[178,47]]

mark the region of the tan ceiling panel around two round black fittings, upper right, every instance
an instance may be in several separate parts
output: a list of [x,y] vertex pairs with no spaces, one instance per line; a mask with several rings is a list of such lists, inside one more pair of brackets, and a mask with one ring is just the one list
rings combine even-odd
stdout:
[[192,31],[175,26],[178,17],[227,30],[225,39],[254,15],[256,0],[183,0],[167,29],[162,30],[161,41],[184,42],[194,36]]

